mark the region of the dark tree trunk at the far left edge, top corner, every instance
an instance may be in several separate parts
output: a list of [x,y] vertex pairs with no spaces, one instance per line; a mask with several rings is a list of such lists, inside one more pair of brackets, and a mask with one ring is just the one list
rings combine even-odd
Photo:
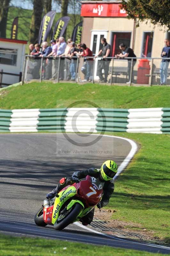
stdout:
[[6,25],[10,0],[0,0],[0,37],[6,37]]

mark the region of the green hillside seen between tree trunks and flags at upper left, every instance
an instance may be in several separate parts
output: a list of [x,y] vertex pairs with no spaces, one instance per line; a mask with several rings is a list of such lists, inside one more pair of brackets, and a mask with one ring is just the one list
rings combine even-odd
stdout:
[[[13,19],[15,17],[19,17],[19,22],[18,22],[19,29],[18,29],[18,38],[17,39],[28,40],[31,15],[32,15],[32,10],[26,10],[26,9],[21,9],[18,7],[11,6],[9,8],[9,12],[8,12],[6,37],[11,38],[11,28],[12,28]],[[69,24],[67,26],[66,38],[72,36],[74,23],[77,24],[81,21],[80,15],[73,16],[73,14],[68,14],[68,16],[70,16],[71,20],[69,21]],[[55,24],[59,18],[60,18],[60,13],[56,13],[55,19],[53,21],[52,30],[54,29]],[[74,20],[74,18],[75,18],[75,20]],[[28,48],[27,48],[27,51],[28,51]]]

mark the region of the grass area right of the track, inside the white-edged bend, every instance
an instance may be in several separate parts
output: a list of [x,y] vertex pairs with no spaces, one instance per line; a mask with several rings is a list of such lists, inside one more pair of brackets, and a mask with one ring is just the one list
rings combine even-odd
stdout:
[[141,224],[170,244],[170,134],[114,135],[135,140],[141,149],[115,181],[107,206],[116,210],[112,218]]

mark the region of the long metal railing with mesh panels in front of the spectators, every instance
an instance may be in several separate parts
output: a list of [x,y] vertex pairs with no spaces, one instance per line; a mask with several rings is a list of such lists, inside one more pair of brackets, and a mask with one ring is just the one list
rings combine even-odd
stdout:
[[22,81],[170,85],[170,58],[32,57],[26,55]]

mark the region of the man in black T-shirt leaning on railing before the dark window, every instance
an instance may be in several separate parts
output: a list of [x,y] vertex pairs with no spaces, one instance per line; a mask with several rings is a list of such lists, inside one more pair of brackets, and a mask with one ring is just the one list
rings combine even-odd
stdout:
[[[119,45],[119,48],[121,50],[121,53],[120,54],[116,54],[115,57],[116,58],[136,58],[136,55],[134,53],[134,51],[129,47],[129,46],[126,46],[125,44],[120,44]],[[128,79],[129,81],[127,82],[127,84],[130,84],[130,73],[131,73],[131,62],[132,62],[132,59],[127,59],[128,60]],[[134,73],[133,73],[133,68],[136,64],[136,59],[133,59],[133,64],[132,64],[132,79],[131,81],[134,80]]]

